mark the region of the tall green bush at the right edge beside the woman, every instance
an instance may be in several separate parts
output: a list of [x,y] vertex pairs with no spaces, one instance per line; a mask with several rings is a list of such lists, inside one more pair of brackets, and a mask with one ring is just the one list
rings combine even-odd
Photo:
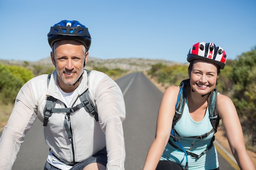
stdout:
[[233,101],[244,132],[254,139],[256,138],[256,46],[251,51],[239,55],[232,68]]

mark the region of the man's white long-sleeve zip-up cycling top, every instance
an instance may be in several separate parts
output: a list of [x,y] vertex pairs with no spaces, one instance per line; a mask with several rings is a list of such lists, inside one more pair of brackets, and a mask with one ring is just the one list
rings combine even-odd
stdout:
[[[75,90],[78,97],[89,86],[99,121],[84,108],[71,113],[71,127],[74,143],[67,137],[64,127],[66,113],[53,113],[44,127],[45,141],[52,153],[63,161],[80,162],[106,146],[107,170],[124,170],[125,146],[122,121],[125,119],[124,97],[119,86],[106,74],[86,71]],[[15,106],[0,138],[0,170],[11,170],[27,131],[38,117],[43,122],[47,96],[57,99],[55,108],[65,108],[57,85],[57,73],[52,73],[47,88],[47,75],[29,80],[19,91]],[[73,106],[80,100],[73,99]],[[67,104],[66,104],[67,105]],[[42,123],[43,127],[43,123]]]

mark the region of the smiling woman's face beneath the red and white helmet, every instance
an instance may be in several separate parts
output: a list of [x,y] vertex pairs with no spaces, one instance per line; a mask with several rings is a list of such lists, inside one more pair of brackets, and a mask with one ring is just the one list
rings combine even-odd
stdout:
[[194,60],[191,68],[190,85],[195,93],[206,95],[216,86],[218,79],[217,65],[204,60]]

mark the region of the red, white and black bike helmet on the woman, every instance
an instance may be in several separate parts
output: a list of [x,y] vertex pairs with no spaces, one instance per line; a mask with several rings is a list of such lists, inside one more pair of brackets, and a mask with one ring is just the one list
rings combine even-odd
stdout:
[[220,46],[216,46],[211,42],[198,42],[189,50],[187,61],[205,60],[217,64],[220,69],[223,69],[227,60],[226,57],[225,51]]

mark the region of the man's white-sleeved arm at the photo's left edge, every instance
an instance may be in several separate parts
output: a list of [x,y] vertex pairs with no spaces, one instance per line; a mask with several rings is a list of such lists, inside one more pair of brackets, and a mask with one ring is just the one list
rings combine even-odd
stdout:
[[0,138],[0,170],[11,170],[25,134],[36,120],[29,83],[19,91],[15,106]]

